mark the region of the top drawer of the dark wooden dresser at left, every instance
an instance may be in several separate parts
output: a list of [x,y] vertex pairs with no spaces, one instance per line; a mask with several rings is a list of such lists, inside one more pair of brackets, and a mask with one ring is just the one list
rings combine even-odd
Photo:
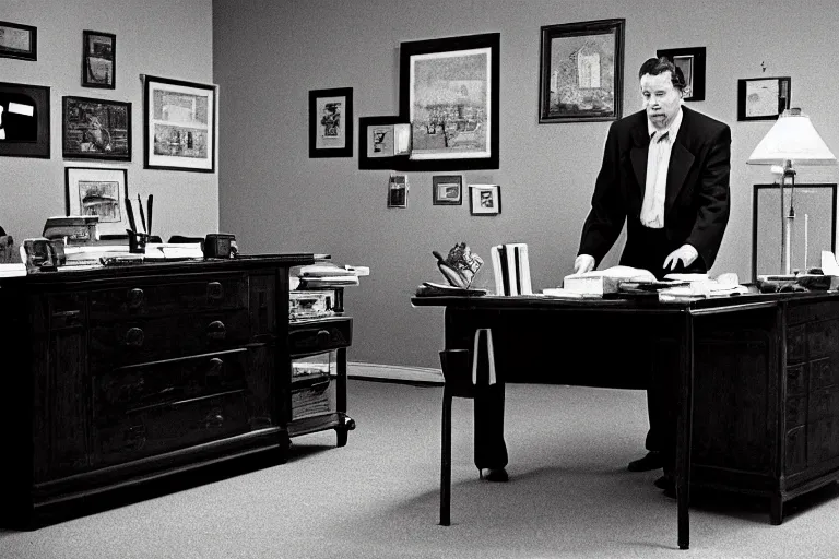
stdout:
[[209,310],[246,309],[248,278],[243,274],[194,281],[144,284],[93,290],[92,321],[120,321],[131,317],[159,317]]

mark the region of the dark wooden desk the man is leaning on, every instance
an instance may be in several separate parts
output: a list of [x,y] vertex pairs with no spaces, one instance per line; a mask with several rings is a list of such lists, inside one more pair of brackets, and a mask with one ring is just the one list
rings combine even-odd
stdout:
[[[491,329],[499,382],[643,388],[647,370],[638,365],[654,342],[678,380],[681,549],[689,546],[690,487],[765,496],[779,524],[784,501],[839,479],[837,294],[667,304],[540,296],[411,302],[445,308],[446,349],[469,349],[476,329]],[[601,366],[577,364],[564,352],[596,356]]]

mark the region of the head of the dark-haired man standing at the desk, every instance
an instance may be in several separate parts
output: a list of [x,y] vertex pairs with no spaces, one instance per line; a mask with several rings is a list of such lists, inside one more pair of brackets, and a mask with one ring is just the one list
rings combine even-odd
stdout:
[[650,58],[638,71],[643,108],[657,130],[670,127],[682,105],[685,76],[666,58]]

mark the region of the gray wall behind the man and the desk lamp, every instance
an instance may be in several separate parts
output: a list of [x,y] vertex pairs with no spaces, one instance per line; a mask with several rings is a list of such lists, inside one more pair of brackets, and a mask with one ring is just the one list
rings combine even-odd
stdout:
[[[465,240],[488,262],[492,245],[523,241],[534,288],[571,272],[608,123],[537,123],[540,27],[610,17],[626,17],[624,115],[640,108],[637,68],[655,49],[707,47],[707,97],[690,106],[733,131],[732,221],[712,273],[747,280],[752,185],[772,178],[745,160],[771,122],[736,121],[737,79],[792,76],[793,106],[839,151],[839,75],[825,71],[839,53],[839,8],[827,0],[794,9],[757,0],[214,0],[221,228],[246,252],[329,252],[369,265],[371,276],[346,297],[357,334],[350,358],[437,366],[442,313],[409,302],[417,284],[441,280],[432,250]],[[356,157],[308,158],[309,90],[350,86],[356,118],[395,115],[401,41],[487,32],[501,34],[500,168],[466,171],[465,182],[500,183],[500,216],[433,206],[429,173],[410,174],[409,207],[389,210],[388,171],[358,170]],[[806,170],[799,182],[836,175]],[[487,266],[478,284],[491,281]]]

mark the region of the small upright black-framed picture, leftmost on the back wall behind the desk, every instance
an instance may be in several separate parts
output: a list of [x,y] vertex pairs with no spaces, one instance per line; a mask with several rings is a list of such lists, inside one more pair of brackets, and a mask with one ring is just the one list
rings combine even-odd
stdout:
[[353,88],[309,91],[309,157],[353,156]]

